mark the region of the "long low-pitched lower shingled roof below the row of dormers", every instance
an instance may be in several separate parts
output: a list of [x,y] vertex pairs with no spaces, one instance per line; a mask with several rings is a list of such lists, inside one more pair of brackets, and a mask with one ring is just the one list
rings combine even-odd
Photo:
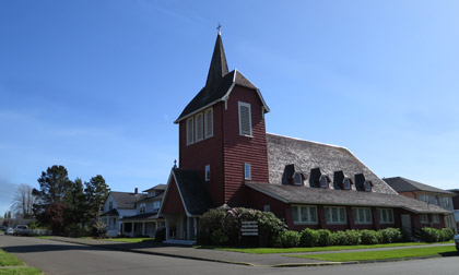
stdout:
[[289,204],[349,205],[400,207],[414,213],[450,213],[437,205],[427,204],[399,194],[356,192],[334,189],[281,186],[246,182],[247,187]]

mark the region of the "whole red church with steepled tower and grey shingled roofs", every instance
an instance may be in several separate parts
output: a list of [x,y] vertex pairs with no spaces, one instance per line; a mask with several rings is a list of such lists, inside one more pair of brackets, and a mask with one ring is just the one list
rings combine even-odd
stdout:
[[205,86],[175,121],[179,164],[158,214],[168,241],[192,243],[200,216],[222,205],[270,211],[294,230],[445,226],[448,211],[399,195],[349,150],[267,133],[269,111],[257,86],[229,72],[219,33]]

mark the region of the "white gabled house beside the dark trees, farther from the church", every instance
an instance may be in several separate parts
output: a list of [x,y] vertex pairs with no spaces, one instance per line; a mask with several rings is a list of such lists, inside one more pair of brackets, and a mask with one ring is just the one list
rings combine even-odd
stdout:
[[122,228],[121,219],[137,214],[136,203],[146,198],[146,194],[111,191],[104,203],[102,220],[107,225],[107,235],[116,237],[121,232],[131,232],[132,228]]

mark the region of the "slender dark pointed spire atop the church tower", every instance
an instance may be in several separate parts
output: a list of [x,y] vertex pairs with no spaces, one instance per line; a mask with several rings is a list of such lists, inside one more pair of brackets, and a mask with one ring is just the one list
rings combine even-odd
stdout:
[[219,35],[216,36],[215,47],[213,48],[213,55],[211,64],[209,68],[208,80],[205,87],[208,92],[213,91],[220,84],[223,76],[228,73],[228,64],[226,63],[225,50],[223,49],[222,35],[219,28]]

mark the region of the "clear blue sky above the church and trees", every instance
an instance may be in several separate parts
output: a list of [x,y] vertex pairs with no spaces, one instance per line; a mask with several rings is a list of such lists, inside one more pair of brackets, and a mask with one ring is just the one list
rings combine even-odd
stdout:
[[217,23],[268,132],[459,188],[457,14],[457,1],[3,0],[0,214],[52,165],[117,191],[165,183]]

